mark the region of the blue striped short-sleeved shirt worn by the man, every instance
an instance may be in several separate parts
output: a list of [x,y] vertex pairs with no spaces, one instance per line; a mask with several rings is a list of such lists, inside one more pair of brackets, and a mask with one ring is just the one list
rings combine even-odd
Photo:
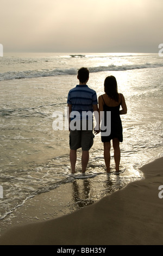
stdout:
[[72,111],[78,111],[80,118],[82,118],[82,111],[93,112],[92,105],[96,105],[97,94],[95,90],[89,88],[86,84],[84,86],[76,86],[68,93],[67,103],[72,105]]

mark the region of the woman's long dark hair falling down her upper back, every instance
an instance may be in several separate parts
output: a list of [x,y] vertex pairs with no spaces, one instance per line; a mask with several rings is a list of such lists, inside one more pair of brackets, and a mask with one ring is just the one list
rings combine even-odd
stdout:
[[111,97],[112,100],[119,101],[117,81],[114,76],[108,76],[104,81],[104,92]]

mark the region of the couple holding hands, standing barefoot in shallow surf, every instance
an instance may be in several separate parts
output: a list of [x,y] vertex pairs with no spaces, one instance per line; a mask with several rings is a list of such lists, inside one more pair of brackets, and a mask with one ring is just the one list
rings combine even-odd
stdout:
[[[114,159],[116,172],[120,172],[120,142],[123,141],[121,114],[127,113],[127,106],[123,94],[118,93],[117,81],[114,76],[108,76],[104,81],[104,94],[98,97],[95,90],[87,86],[89,80],[89,70],[81,68],[78,70],[79,84],[70,90],[67,97],[67,107],[69,108],[69,127],[70,127],[70,162],[71,172],[75,173],[77,161],[77,149],[82,148],[82,173],[85,173],[89,162],[89,150],[93,145],[93,115],[83,115],[83,113],[99,113],[95,115],[98,124],[94,132],[101,131],[101,140],[104,145],[104,161],[106,172],[110,173],[110,148],[114,148]],[[120,106],[122,109],[120,110]],[[80,113],[79,129],[72,129],[71,121],[74,119],[72,113]],[[102,114],[101,114],[102,113]],[[99,118],[99,119],[98,119]],[[98,119],[98,120],[97,120]],[[77,119],[75,118],[75,121]],[[86,127],[82,126],[85,121]],[[76,123],[76,122],[75,122]],[[74,123],[73,123],[74,124]],[[109,133],[106,132],[109,124]]]

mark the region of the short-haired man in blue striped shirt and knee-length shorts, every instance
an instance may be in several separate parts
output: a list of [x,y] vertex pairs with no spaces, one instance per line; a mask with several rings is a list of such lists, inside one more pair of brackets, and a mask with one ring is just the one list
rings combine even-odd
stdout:
[[[77,149],[82,148],[82,173],[85,173],[89,161],[89,150],[93,145],[93,111],[98,111],[97,95],[95,90],[87,86],[89,70],[78,70],[79,85],[71,89],[67,97],[69,108],[70,130],[70,162],[72,173],[75,173]],[[97,134],[99,131],[95,131]]]

